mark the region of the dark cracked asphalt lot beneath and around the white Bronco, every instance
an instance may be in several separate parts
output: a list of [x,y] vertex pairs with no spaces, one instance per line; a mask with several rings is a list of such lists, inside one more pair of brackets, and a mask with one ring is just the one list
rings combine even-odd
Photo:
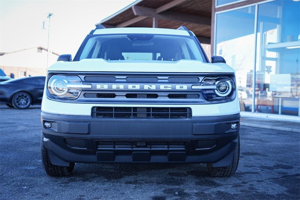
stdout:
[[298,133],[241,127],[232,177],[205,164],[80,164],[49,177],[40,154],[40,107],[0,107],[0,199],[300,199]]

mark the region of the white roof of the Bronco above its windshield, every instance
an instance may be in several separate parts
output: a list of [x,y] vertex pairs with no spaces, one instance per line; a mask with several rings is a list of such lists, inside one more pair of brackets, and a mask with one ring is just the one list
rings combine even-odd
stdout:
[[187,31],[167,28],[103,28],[96,29],[96,34],[168,34],[190,36]]

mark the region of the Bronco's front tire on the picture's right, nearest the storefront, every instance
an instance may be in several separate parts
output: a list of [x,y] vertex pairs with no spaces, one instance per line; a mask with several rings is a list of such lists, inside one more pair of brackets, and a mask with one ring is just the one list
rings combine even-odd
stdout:
[[233,160],[231,165],[226,167],[213,167],[211,163],[206,164],[208,172],[215,177],[226,177],[234,175],[236,169],[238,168],[238,160],[240,157],[240,139],[238,136],[238,143],[236,144]]

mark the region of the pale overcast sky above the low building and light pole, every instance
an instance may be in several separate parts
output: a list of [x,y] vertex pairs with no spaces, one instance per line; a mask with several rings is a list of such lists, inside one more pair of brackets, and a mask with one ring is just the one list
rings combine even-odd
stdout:
[[[135,0],[98,1],[4,1],[0,0],[0,52],[34,46],[47,48],[48,13],[49,49],[75,56],[85,36],[102,19]],[[45,28],[43,30],[43,21]]]

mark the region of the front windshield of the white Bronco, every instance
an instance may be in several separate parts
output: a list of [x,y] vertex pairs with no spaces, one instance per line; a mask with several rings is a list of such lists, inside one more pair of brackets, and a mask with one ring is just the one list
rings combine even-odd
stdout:
[[199,60],[202,51],[194,37],[154,34],[93,35],[79,52],[79,59]]

